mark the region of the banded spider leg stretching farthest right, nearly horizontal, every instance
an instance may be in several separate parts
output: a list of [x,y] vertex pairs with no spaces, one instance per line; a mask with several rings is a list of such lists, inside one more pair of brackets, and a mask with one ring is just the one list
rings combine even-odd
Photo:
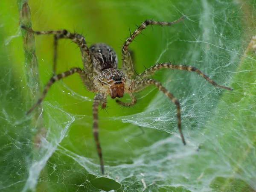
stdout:
[[227,90],[233,90],[230,87],[225,87],[225,86],[217,84],[215,81],[212,81],[212,79],[209,79],[208,76],[206,76],[204,73],[202,73],[200,70],[198,70],[195,67],[186,66],[186,65],[176,65],[176,64],[171,64],[171,63],[161,63],[161,64],[154,65],[154,66],[148,68],[147,70],[145,70],[143,73],[140,73],[140,75],[138,75],[135,78],[135,81],[140,81],[141,79],[146,79],[146,78],[150,77],[151,75],[153,75],[156,71],[160,70],[161,68],[194,71],[195,73],[202,76],[209,83],[211,83],[212,85],[214,85],[216,87],[221,87],[221,88],[227,89]]

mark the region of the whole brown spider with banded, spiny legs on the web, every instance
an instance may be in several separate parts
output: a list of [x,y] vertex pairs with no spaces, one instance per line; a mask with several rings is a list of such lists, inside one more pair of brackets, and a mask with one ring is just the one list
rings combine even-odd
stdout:
[[[98,122],[98,107],[99,105],[102,108],[107,106],[107,96],[110,95],[112,99],[118,97],[121,98],[124,93],[128,93],[131,96],[131,102],[122,102],[116,100],[116,103],[125,107],[133,106],[137,102],[133,93],[136,93],[140,90],[143,90],[149,85],[156,86],[160,91],[162,91],[177,107],[177,124],[178,130],[180,132],[180,137],[184,145],[186,141],[184,139],[182,130],[181,130],[181,117],[180,117],[180,102],[177,98],[170,93],[159,81],[151,79],[150,76],[153,75],[157,70],[161,68],[168,69],[177,69],[177,70],[187,70],[193,71],[198,75],[202,76],[209,83],[214,86],[221,87],[227,90],[232,90],[229,87],[224,87],[215,83],[207,77],[204,73],[192,66],[172,64],[172,63],[158,63],[154,66],[148,68],[140,75],[136,76],[134,79],[134,67],[132,64],[133,55],[131,54],[130,49],[128,49],[131,42],[136,38],[139,33],[145,29],[148,25],[157,25],[157,26],[172,26],[175,23],[184,20],[186,17],[180,17],[179,19],[173,22],[159,22],[154,20],[145,20],[137,29],[126,39],[124,45],[122,46],[122,66],[125,67],[125,70],[117,68],[117,55],[116,52],[107,44],[96,43],[87,47],[84,36],[71,33],[65,29],[56,30],[56,31],[34,31],[31,28],[26,26],[21,26],[22,29],[25,29],[28,32],[35,33],[36,35],[44,34],[54,34],[54,59],[53,59],[53,76],[46,84],[44,91],[41,97],[38,99],[38,102],[32,106],[27,112],[30,113],[35,107],[37,107],[44,99],[47,91],[52,86],[53,83],[59,81],[60,79],[78,73],[83,81],[85,87],[96,93],[93,99],[93,136],[96,143],[96,149],[99,155],[101,172],[104,174],[104,164],[102,158],[102,149],[99,143],[99,122]],[[81,57],[83,61],[83,69],[78,67],[73,67],[64,73],[55,75],[56,69],[56,58],[57,58],[57,44],[59,39],[71,39],[75,42],[81,50]]]

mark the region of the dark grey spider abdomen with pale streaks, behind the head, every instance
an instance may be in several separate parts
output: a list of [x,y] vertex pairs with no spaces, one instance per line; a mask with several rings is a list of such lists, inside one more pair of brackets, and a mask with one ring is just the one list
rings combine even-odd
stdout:
[[117,55],[112,47],[104,43],[96,43],[89,48],[94,72],[108,68],[117,68]]

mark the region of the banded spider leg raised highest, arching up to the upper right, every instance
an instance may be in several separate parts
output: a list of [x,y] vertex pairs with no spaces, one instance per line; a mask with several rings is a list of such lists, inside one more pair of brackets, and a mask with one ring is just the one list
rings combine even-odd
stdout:
[[134,38],[139,35],[139,33],[146,28],[148,25],[160,25],[160,26],[171,26],[175,23],[180,22],[181,20],[185,19],[186,17],[183,16],[173,22],[159,22],[154,20],[145,20],[138,28],[126,39],[125,44],[122,47],[122,58],[123,58],[123,65],[126,66],[128,78],[131,78],[134,74],[134,69],[132,65],[131,54],[128,51],[128,46],[134,40]]

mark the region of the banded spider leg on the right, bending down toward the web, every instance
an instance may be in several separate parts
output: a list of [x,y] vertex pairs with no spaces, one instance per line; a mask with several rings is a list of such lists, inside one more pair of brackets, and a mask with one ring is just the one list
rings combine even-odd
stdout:
[[183,144],[186,145],[186,141],[184,139],[184,136],[183,136],[183,133],[182,133],[182,130],[181,130],[180,102],[177,100],[177,98],[172,93],[170,93],[165,87],[163,87],[163,85],[159,81],[154,80],[154,79],[146,79],[146,80],[138,82],[137,84],[135,84],[135,86],[133,87],[133,89],[131,91],[133,93],[138,92],[138,91],[143,90],[144,88],[148,87],[148,85],[151,85],[151,84],[153,84],[160,91],[162,91],[176,105],[176,107],[177,107],[178,129],[180,131],[181,140],[182,140]]

